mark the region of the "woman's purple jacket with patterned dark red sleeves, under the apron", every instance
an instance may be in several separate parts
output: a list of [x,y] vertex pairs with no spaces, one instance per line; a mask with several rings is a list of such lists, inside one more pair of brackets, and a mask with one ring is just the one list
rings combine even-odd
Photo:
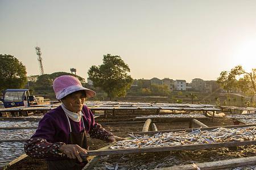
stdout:
[[[84,114],[82,118],[86,133],[90,134],[92,138],[108,141],[107,138],[113,134],[94,121],[92,111],[84,105],[82,113]],[[82,121],[75,122],[71,119],[69,121],[72,132],[84,130]],[[61,106],[52,109],[44,115],[35,134],[24,144],[24,151],[27,155],[35,158],[60,158],[59,147],[68,143],[69,131],[67,116]]]

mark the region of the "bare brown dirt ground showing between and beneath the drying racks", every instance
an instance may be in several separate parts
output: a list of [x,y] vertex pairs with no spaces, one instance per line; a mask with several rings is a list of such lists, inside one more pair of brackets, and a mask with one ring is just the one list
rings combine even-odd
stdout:
[[[117,123],[117,124],[105,124],[105,122],[117,122],[117,121],[131,121],[131,117],[139,116],[141,114],[155,114],[154,111],[144,112],[144,113],[136,113],[131,114],[129,112],[120,112],[116,113],[115,117],[113,115],[108,115],[108,118],[104,116],[100,116],[96,118],[96,122],[102,122],[102,126],[106,129],[111,131],[114,135],[119,137],[127,137],[128,133],[131,132],[138,132],[142,131],[143,122],[136,123],[136,124],[125,124],[125,123]],[[225,125],[233,125],[233,121],[228,118],[208,118],[207,120],[201,121],[203,124],[207,126],[225,126]],[[172,130],[172,129],[188,129],[189,123],[188,122],[156,122],[156,127],[158,130]],[[196,125],[192,125],[192,128],[198,128]],[[89,149],[90,150],[97,150],[104,146],[109,145],[105,141],[100,141],[98,139],[90,139],[89,138]],[[23,169],[38,169],[44,170],[47,169],[46,162],[42,159],[34,159],[27,157],[20,162],[12,165],[9,170],[23,170]]]

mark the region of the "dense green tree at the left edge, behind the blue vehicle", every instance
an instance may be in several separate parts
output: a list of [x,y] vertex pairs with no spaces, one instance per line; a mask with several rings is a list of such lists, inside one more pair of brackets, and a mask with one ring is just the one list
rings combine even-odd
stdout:
[[11,55],[0,54],[0,91],[23,88],[27,82],[26,67]]

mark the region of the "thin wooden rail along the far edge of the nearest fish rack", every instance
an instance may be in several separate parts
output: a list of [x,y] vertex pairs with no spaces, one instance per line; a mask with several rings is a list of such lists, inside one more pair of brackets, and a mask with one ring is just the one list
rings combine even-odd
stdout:
[[[171,132],[171,131],[192,131],[192,130],[195,130],[195,129],[201,129],[202,131],[203,130],[213,130],[213,129],[216,129],[216,128],[228,128],[228,129],[231,129],[231,128],[243,128],[243,127],[249,127],[249,126],[256,126],[256,124],[248,124],[248,125],[230,125],[230,126],[212,126],[212,127],[209,127],[209,128],[193,128],[193,129],[175,129],[175,130],[162,130],[162,131],[157,131],[157,133],[168,133],[168,132]],[[131,133],[134,133],[134,134],[155,134],[156,132],[155,131],[147,131],[147,132],[131,132]]]

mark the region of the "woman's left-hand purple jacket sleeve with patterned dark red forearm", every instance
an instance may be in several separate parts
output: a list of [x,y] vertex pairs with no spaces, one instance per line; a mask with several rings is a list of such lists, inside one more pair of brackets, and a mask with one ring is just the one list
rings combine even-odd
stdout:
[[24,151],[27,155],[34,158],[54,158],[61,157],[59,148],[65,145],[63,142],[53,143],[53,137],[56,133],[55,123],[51,117],[45,115],[39,122],[35,134],[24,143]]

